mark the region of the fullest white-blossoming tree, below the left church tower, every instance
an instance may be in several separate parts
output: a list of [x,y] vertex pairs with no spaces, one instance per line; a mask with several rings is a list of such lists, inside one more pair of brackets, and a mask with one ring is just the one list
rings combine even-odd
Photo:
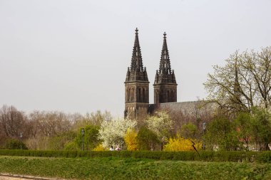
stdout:
[[104,121],[99,130],[99,139],[103,140],[103,147],[116,147],[124,145],[124,136],[128,129],[134,129],[136,121],[119,118],[117,120]]

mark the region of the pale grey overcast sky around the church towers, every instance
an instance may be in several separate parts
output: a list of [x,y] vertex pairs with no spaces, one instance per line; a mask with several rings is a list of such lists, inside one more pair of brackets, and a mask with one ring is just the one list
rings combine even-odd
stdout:
[[0,0],[0,105],[123,116],[134,30],[150,81],[168,34],[178,102],[206,97],[212,65],[271,42],[270,0]]

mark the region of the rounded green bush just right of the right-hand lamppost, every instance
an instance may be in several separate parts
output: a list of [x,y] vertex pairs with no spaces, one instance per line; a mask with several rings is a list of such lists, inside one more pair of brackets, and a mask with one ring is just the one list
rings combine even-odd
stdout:
[[216,117],[206,127],[204,142],[208,149],[220,151],[239,150],[242,142],[237,136],[237,127],[227,117]]

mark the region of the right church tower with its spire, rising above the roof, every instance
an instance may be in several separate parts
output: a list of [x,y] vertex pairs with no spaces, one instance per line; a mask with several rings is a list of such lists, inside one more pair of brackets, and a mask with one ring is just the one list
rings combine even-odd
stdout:
[[159,70],[156,70],[153,88],[154,104],[177,102],[177,83],[175,80],[174,70],[171,71],[170,67],[166,33],[164,33],[160,67]]

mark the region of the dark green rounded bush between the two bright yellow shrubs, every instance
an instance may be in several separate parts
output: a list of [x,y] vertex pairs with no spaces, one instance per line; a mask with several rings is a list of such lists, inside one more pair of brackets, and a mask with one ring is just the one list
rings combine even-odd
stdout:
[[160,142],[157,135],[146,127],[139,129],[136,141],[139,150],[154,150]]

